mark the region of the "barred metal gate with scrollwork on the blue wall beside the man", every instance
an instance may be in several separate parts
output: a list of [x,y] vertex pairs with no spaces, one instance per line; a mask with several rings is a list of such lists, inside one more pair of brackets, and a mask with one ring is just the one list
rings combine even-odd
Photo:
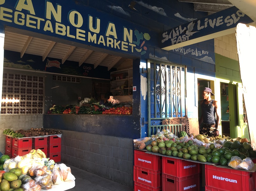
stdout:
[[189,133],[184,66],[148,61],[148,135],[169,129]]

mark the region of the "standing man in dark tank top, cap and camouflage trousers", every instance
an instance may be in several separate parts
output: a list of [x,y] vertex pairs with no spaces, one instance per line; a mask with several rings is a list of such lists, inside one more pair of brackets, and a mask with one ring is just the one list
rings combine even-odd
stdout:
[[[219,136],[220,117],[218,115],[218,102],[211,98],[212,90],[205,87],[200,101],[202,115],[199,120],[199,133],[208,136]],[[201,123],[203,123],[200,128]]]

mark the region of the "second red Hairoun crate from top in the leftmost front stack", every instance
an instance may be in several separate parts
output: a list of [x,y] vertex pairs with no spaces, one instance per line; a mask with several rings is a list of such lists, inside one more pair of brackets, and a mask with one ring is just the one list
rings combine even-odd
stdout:
[[159,188],[162,186],[162,171],[148,170],[138,166],[133,166],[133,179],[135,182],[149,187]]

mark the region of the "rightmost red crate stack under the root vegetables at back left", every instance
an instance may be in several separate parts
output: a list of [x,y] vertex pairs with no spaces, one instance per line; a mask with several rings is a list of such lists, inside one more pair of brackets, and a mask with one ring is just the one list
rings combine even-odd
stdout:
[[61,162],[61,137],[51,135],[48,137],[48,158]]

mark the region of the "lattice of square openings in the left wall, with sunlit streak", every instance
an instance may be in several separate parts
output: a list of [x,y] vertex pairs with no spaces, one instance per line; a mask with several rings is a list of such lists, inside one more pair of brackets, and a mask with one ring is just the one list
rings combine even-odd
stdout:
[[43,114],[44,78],[3,73],[1,114]]

